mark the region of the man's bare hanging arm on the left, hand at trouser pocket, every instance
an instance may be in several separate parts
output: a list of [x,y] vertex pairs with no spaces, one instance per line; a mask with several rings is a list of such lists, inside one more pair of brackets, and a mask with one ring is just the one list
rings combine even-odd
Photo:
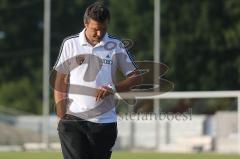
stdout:
[[54,100],[56,105],[56,114],[62,118],[66,113],[68,103],[68,82],[69,75],[56,72],[54,82]]

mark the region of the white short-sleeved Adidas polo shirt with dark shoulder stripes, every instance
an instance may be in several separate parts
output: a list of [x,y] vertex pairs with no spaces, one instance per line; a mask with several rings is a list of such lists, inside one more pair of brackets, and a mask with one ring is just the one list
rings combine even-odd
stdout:
[[[79,64],[75,57],[81,56],[85,58]],[[85,29],[83,29],[79,34],[70,36],[63,41],[54,69],[70,75],[69,83],[73,86],[74,92],[69,91],[68,93],[68,98],[72,100],[67,107],[68,114],[78,116],[79,113],[92,110],[101,104],[106,107],[110,106],[111,109],[87,120],[96,123],[111,123],[117,121],[114,96],[109,95],[97,102],[95,91],[91,90],[96,90],[100,86],[116,84],[117,69],[127,76],[136,67],[122,42],[116,37],[106,33],[97,45],[92,46],[87,42]],[[74,87],[74,85],[86,87],[86,90]]]

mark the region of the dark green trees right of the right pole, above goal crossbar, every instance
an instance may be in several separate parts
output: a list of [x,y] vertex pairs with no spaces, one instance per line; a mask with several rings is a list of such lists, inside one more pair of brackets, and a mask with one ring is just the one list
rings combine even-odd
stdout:
[[162,0],[162,61],[178,91],[239,89],[237,0]]

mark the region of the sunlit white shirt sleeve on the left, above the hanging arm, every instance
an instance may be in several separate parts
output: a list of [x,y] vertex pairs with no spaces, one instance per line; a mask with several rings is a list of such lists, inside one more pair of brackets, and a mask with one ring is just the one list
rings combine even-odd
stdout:
[[69,55],[70,55],[70,48],[68,46],[68,43],[67,41],[63,41],[59,51],[57,61],[53,69],[62,74],[69,74],[70,72]]

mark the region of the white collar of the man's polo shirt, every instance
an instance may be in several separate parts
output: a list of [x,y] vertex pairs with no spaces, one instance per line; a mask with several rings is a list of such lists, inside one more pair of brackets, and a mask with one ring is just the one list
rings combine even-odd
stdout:
[[[85,30],[86,28],[84,28],[80,33],[79,33],[79,42],[81,46],[92,46],[91,44],[88,43],[86,36],[85,36]],[[107,42],[107,37],[108,37],[108,33],[106,33],[104,35],[104,37],[102,38],[102,40],[95,46],[104,46]]]

